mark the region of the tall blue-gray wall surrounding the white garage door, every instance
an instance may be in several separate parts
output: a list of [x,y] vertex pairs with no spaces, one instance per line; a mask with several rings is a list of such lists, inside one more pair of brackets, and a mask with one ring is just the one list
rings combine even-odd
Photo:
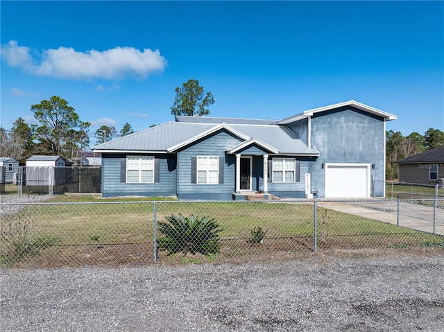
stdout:
[[[325,169],[322,164],[370,164],[370,178],[385,180],[384,173],[384,119],[357,110],[339,107],[320,112],[311,118],[311,148],[321,151],[316,162],[309,164],[311,187],[316,186],[318,195],[325,197]],[[375,196],[384,195],[383,187],[377,186]]]

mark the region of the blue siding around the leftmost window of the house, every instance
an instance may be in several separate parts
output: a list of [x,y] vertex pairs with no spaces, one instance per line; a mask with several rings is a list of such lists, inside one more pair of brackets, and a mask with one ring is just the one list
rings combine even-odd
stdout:
[[160,160],[160,182],[126,183],[121,182],[121,158],[126,158],[126,155],[103,153],[102,196],[150,197],[176,195],[176,155],[154,155],[154,157]]

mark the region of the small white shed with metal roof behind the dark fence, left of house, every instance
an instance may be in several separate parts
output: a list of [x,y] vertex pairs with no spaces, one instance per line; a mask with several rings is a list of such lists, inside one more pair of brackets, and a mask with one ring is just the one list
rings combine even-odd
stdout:
[[65,172],[62,167],[66,166],[67,161],[60,156],[29,157],[26,159],[23,181],[26,186],[53,186],[65,183]]

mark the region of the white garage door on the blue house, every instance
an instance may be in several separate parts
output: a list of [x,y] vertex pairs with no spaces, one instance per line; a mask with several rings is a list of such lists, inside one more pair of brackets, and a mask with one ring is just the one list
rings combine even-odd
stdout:
[[325,197],[368,197],[369,170],[368,164],[325,164]]

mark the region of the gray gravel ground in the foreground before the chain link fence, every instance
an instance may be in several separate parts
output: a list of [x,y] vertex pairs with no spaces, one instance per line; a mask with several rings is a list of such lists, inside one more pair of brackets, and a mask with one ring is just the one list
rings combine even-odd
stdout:
[[443,250],[0,272],[0,331],[444,331]]

